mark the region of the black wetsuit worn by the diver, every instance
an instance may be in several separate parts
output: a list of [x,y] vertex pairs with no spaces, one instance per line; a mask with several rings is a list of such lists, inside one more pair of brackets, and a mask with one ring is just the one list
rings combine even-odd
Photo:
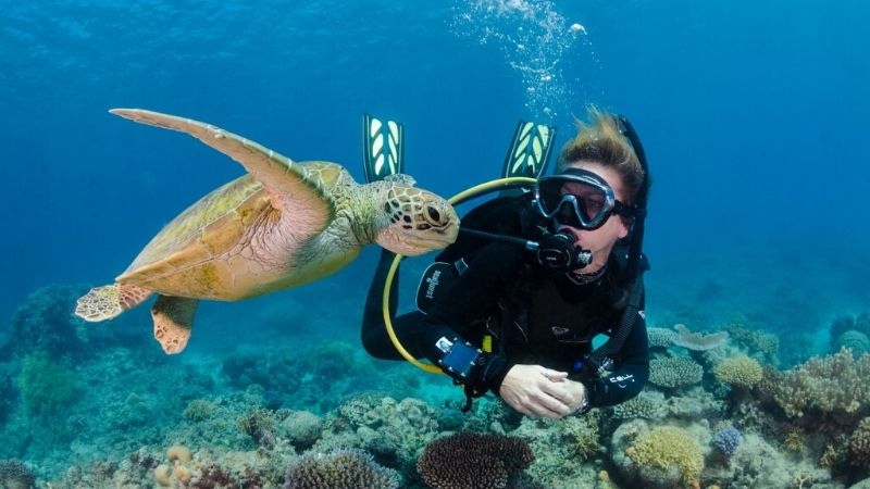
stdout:
[[[391,256],[387,252],[382,255],[369,291],[362,343],[373,356],[401,360],[386,334],[382,313],[382,288]],[[609,375],[599,378],[582,368],[592,338],[608,334],[620,321],[622,311],[611,305],[618,269],[611,258],[599,278],[579,285],[569,274],[545,273],[519,247],[494,242],[474,253],[468,269],[428,314],[414,311],[396,317],[394,329],[412,355],[436,364],[443,356],[435,346],[439,338],[458,337],[480,346],[484,335],[492,335],[494,348],[486,371],[472,379],[478,391],[489,389],[498,394],[511,366],[538,364],[568,372],[569,378],[582,381],[592,408],[618,404],[637,396],[649,377],[643,313],[612,359]],[[396,302],[391,297],[394,315]]]

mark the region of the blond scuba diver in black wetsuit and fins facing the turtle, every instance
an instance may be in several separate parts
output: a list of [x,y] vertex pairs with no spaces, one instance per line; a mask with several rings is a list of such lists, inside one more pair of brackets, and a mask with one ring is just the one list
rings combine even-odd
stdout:
[[[536,177],[536,184],[470,211],[464,233],[424,274],[420,311],[391,321],[413,358],[427,359],[463,386],[463,411],[492,391],[525,415],[560,418],[624,402],[649,377],[648,264],[641,253],[645,154],[625,117],[594,106],[588,117],[561,149],[555,174],[543,177],[555,129],[520,123],[502,176]],[[371,117],[364,124],[370,138],[382,126]],[[383,126],[393,139],[368,145],[368,179],[402,170],[402,127]],[[387,147],[387,154],[376,154]],[[365,350],[385,360],[402,359],[382,306],[394,258],[382,252],[362,321]],[[594,348],[598,335],[608,339]]]

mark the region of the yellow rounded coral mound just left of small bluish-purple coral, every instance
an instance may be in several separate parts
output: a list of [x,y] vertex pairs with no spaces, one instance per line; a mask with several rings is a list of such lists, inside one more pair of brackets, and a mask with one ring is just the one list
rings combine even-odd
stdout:
[[683,429],[672,426],[641,435],[634,446],[625,450],[625,454],[638,465],[664,471],[675,465],[687,486],[697,485],[704,469],[704,456],[698,443]]

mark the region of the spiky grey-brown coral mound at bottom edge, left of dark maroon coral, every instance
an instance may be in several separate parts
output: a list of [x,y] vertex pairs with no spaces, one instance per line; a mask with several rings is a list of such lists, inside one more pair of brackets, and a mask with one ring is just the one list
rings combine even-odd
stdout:
[[309,452],[287,469],[284,489],[378,488],[398,489],[396,471],[382,467],[360,450],[327,454]]

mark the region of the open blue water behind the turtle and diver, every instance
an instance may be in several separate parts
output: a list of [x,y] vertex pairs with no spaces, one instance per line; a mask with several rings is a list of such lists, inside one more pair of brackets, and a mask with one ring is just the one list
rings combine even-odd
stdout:
[[[518,118],[558,125],[561,145],[597,104],[649,158],[652,324],[749,317],[803,362],[833,318],[870,310],[868,18],[855,0],[0,2],[0,330],[39,287],[110,283],[243,174],[109,109],[206,121],[358,179],[370,112],[405,122],[408,173],[449,196],[497,174]],[[191,352],[229,349],[239,324],[304,343],[328,323],[359,346],[375,256],[206,305]],[[719,293],[700,302],[705,287]],[[145,308],[129,314],[150,341]]]

